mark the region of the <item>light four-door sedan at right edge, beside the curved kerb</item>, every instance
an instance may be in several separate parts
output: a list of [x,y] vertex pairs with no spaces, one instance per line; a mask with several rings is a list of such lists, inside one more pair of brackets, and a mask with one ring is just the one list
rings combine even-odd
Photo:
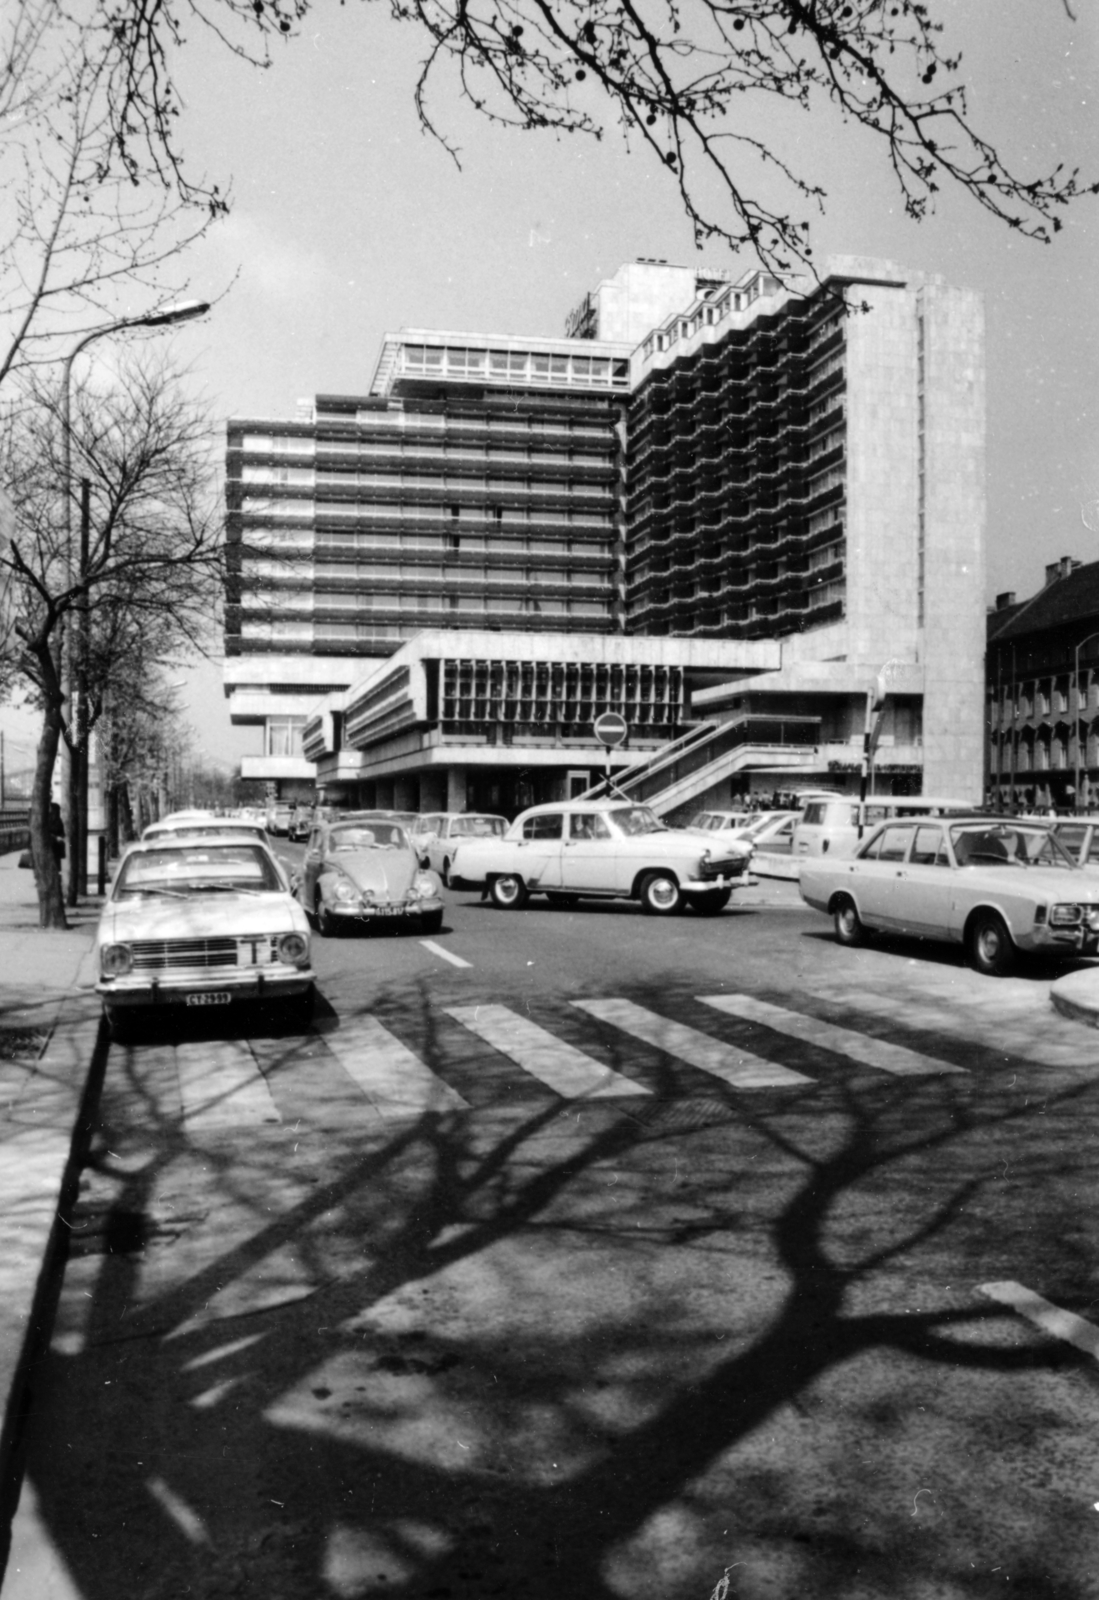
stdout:
[[875,930],[945,939],[989,974],[1006,973],[1019,950],[1099,949],[1099,878],[1043,822],[896,818],[853,858],[803,861],[800,886],[833,918],[840,944]]

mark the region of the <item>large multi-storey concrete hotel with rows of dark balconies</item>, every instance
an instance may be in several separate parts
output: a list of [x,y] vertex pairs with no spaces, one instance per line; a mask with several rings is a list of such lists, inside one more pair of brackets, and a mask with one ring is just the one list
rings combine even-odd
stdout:
[[[386,701],[390,667],[414,675],[427,637],[474,677],[499,634],[530,642],[531,672],[541,648],[547,672],[584,662],[592,683],[606,662],[608,685],[611,659],[640,672],[662,640],[667,666],[681,640],[681,706],[661,736],[776,714],[789,731],[739,749],[710,800],[792,770],[854,782],[883,674],[881,786],[976,800],[979,298],[883,262],[835,261],[800,293],[766,272],[632,262],[568,328],[392,334],[370,394],[229,424],[226,686],[234,720],[264,731],[246,773],[312,774],[277,750],[315,710],[304,755],[347,798],[392,803],[397,781],[416,803],[419,773],[438,805],[440,771],[491,770],[504,738],[509,763],[542,774],[526,792],[549,797],[589,758],[576,696],[560,715],[544,696],[536,730],[506,690],[469,696],[483,725],[461,733],[427,717],[430,696],[390,726],[354,707]],[[520,683],[502,656],[493,670]],[[467,742],[448,752],[448,738]]]

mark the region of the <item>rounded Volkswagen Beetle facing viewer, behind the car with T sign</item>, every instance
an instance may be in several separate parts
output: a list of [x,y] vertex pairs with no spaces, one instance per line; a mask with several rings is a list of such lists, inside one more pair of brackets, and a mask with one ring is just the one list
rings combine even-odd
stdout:
[[298,898],[323,934],[384,918],[421,933],[443,923],[443,885],[389,818],[341,816],[309,835]]

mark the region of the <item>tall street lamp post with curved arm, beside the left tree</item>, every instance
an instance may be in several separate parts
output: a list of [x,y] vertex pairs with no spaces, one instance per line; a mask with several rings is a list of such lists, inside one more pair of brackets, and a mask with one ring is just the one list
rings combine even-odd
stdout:
[[[126,328],[168,328],[179,322],[190,322],[194,317],[205,317],[210,310],[208,301],[178,301],[162,310],[149,312],[144,317],[120,317],[118,322],[104,323],[93,328],[83,339],[69,350],[61,378],[61,470],[64,491],[64,530],[66,530],[66,565],[69,587],[74,576],[80,582],[88,571],[88,490],[82,494],[80,517],[80,565],[74,573],[72,550],[72,363],[93,339],[102,339],[109,333],[122,333]],[[75,646],[75,648],[74,648]],[[66,798],[69,806],[69,904],[75,906],[77,898],[85,893],[88,877],[88,750],[86,750],[86,666],[88,666],[88,597],[83,595],[78,610],[78,627],[74,629],[69,648],[66,648],[64,632],[61,635],[61,680],[69,693],[69,723],[72,744],[69,752],[69,771]],[[64,754],[64,752],[62,752]],[[62,763],[64,765],[64,763]]]

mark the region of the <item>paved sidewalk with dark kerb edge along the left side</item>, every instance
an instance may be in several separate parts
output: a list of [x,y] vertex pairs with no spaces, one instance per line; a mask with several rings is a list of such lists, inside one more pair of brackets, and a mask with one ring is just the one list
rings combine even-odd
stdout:
[[19,1494],[19,1432],[53,1264],[74,1133],[102,1059],[91,941],[98,904],[67,931],[38,926],[34,874],[0,856],[0,1578]]

